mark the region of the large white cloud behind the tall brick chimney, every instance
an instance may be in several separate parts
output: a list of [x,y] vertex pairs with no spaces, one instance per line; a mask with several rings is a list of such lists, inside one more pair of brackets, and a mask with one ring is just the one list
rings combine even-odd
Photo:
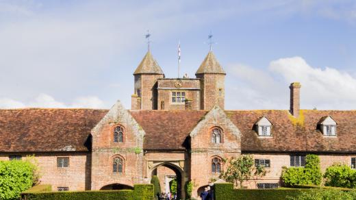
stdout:
[[227,104],[234,109],[288,109],[292,82],[301,82],[301,108],[356,109],[355,76],[331,67],[310,66],[301,57],[274,60],[267,69],[234,64],[228,71],[236,77],[227,84],[231,91],[226,95]]

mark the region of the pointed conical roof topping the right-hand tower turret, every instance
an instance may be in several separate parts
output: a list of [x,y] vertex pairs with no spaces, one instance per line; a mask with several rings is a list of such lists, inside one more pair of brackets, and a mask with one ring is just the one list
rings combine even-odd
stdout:
[[204,61],[199,66],[198,71],[196,71],[196,75],[201,73],[220,73],[226,74],[223,70],[223,67],[220,66],[218,60],[216,60],[213,51],[209,51],[207,56],[205,57]]

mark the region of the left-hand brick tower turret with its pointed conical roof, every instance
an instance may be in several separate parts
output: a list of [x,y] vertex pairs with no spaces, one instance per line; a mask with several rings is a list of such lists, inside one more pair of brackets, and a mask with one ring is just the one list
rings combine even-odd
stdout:
[[133,76],[135,89],[131,96],[131,109],[156,110],[157,79],[163,78],[164,73],[153,58],[151,51],[147,51],[144,55]]

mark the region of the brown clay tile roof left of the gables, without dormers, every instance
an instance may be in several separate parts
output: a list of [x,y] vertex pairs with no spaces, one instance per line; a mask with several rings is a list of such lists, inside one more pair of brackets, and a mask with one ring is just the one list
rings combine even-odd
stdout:
[[86,142],[90,130],[106,112],[92,109],[0,110],[0,151],[88,151]]

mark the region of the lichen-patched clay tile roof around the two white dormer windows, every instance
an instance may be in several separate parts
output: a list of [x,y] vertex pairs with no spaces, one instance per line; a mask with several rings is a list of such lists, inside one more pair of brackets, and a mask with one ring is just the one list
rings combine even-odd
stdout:
[[[240,129],[242,151],[356,152],[356,111],[301,110],[297,119],[287,110],[226,112]],[[335,138],[324,137],[318,129],[320,118],[329,115],[338,121]],[[271,138],[257,137],[253,124],[260,116],[273,123]]]

